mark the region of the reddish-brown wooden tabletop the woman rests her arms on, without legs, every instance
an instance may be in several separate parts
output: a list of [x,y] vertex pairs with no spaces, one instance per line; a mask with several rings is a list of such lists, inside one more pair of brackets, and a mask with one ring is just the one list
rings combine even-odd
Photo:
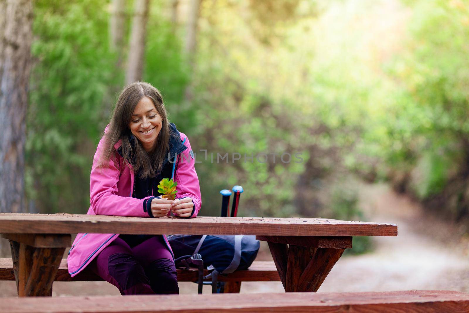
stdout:
[[0,214],[0,233],[110,233],[271,236],[397,236],[395,224],[321,218],[142,218],[79,214]]

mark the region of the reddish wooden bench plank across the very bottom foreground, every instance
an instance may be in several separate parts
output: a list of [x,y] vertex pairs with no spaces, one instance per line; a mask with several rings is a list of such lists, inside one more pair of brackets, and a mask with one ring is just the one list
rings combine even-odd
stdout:
[[457,291],[296,292],[125,297],[4,298],[2,313],[62,312],[469,312],[469,294]]

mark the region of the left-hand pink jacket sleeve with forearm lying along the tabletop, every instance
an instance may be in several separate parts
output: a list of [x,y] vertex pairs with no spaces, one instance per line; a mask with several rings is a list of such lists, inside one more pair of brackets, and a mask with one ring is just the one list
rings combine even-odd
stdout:
[[98,168],[99,158],[103,153],[103,137],[94,154],[93,167],[90,175],[90,203],[95,214],[150,217],[144,211],[144,202],[151,197],[137,199],[122,197],[116,194],[117,183],[121,174],[120,164],[116,160],[109,160],[103,168]]

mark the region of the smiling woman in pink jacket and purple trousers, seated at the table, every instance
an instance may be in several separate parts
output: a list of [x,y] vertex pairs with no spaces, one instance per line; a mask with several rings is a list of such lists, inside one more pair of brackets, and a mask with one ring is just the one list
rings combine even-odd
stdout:
[[[94,155],[87,214],[196,217],[201,197],[193,155],[189,139],[167,120],[159,91],[128,85]],[[174,201],[159,197],[162,178],[177,182]],[[78,234],[68,272],[73,277],[85,267],[122,295],[179,293],[165,235]]]

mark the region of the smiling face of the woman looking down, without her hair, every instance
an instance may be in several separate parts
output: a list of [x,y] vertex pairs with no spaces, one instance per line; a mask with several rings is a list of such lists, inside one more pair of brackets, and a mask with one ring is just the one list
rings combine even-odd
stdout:
[[161,130],[162,117],[148,97],[143,97],[135,107],[129,128],[132,134],[140,141],[145,151],[153,149],[156,138]]

